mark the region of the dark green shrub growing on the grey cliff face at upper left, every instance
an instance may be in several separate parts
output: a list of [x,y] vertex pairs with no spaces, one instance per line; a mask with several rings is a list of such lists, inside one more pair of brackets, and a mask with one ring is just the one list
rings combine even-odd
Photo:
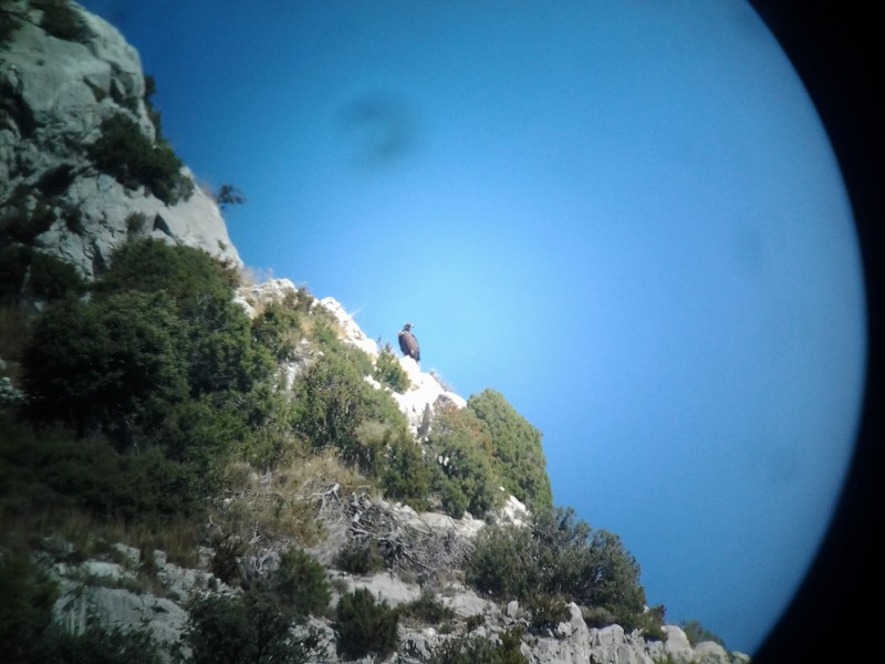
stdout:
[[167,205],[175,205],[194,190],[181,173],[181,160],[163,139],[152,142],[138,124],[118,113],[102,121],[101,136],[87,146],[95,167],[113,176],[127,189],[146,187]]

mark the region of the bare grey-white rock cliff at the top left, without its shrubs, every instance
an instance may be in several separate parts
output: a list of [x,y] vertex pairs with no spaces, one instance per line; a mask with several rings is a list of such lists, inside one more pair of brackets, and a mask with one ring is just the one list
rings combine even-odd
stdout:
[[[30,209],[38,199],[49,205],[55,219],[37,235],[34,247],[74,264],[87,279],[134,237],[186,245],[242,267],[218,205],[199,186],[167,205],[144,189],[125,188],[87,156],[102,122],[114,115],[125,115],[157,139],[138,52],[116,28],[76,3],[71,7],[84,29],[73,41],[43,30],[39,9],[7,4],[17,29],[0,59],[0,205],[11,207],[22,193]],[[194,181],[187,168],[181,175]]]

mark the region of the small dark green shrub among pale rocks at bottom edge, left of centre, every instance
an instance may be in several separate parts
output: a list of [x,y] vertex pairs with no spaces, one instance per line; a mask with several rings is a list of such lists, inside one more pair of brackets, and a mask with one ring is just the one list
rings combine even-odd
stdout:
[[334,624],[337,652],[352,660],[368,654],[384,658],[398,645],[398,624],[396,610],[376,603],[369,591],[360,588],[339,600]]

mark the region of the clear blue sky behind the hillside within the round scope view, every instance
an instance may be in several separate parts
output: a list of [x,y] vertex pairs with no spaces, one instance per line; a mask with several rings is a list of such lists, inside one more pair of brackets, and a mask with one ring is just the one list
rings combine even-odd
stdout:
[[850,204],[752,9],[717,2],[84,6],[251,268],[501,392],[558,505],[649,604],[752,653],[821,542],[865,371]]

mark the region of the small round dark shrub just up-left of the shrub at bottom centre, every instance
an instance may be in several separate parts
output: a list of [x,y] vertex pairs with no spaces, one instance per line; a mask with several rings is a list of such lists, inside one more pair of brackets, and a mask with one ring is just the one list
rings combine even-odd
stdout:
[[283,553],[273,575],[273,590],[296,620],[321,615],[332,599],[325,568],[300,549]]

